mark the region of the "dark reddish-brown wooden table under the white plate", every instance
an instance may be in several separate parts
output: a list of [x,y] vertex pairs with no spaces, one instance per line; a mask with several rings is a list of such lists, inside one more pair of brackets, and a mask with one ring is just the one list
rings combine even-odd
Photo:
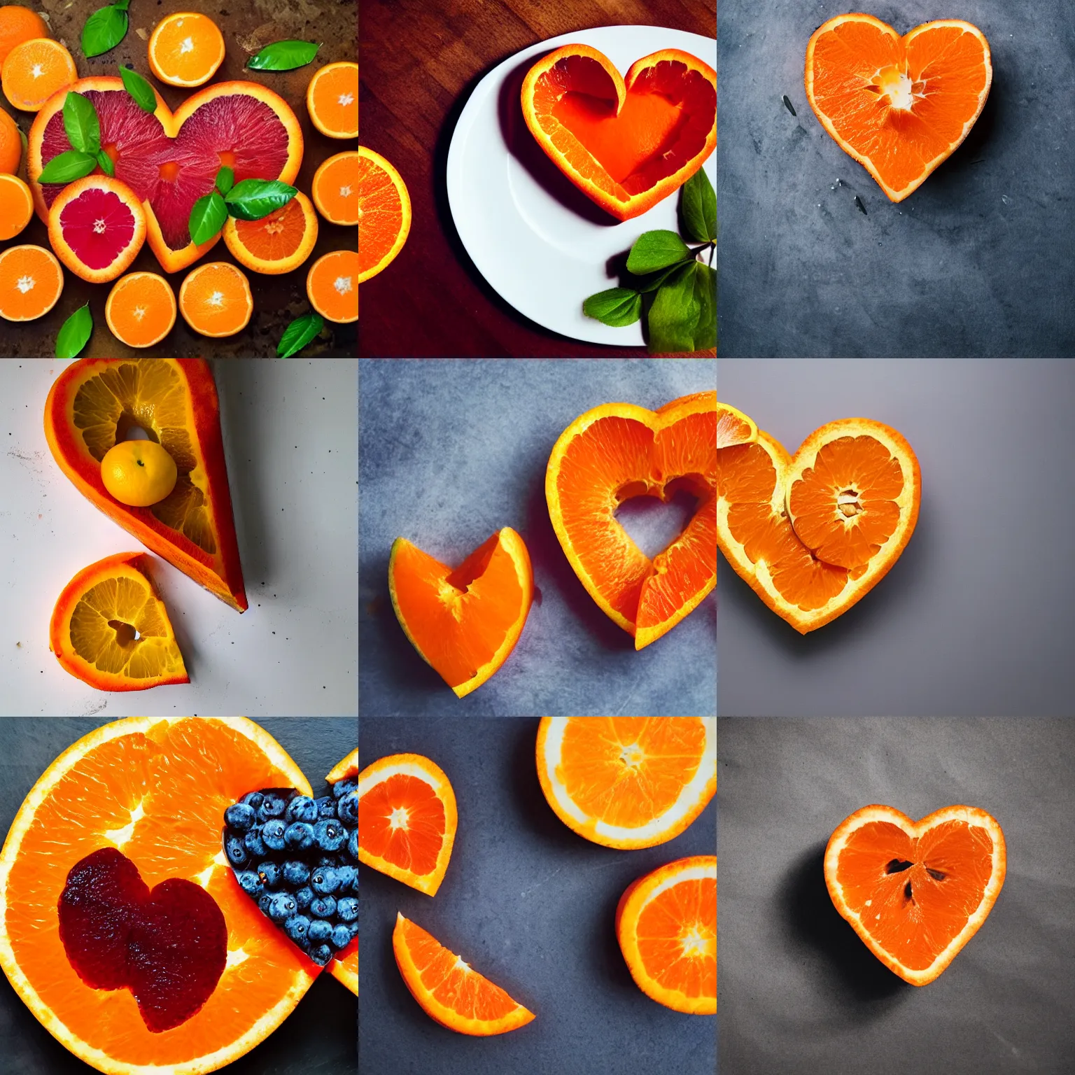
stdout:
[[535,325],[486,283],[448,209],[448,144],[463,104],[505,57],[597,26],[666,26],[716,37],[714,0],[362,0],[362,145],[396,166],[411,194],[411,234],[361,286],[369,357],[644,356],[644,347],[569,340]]

